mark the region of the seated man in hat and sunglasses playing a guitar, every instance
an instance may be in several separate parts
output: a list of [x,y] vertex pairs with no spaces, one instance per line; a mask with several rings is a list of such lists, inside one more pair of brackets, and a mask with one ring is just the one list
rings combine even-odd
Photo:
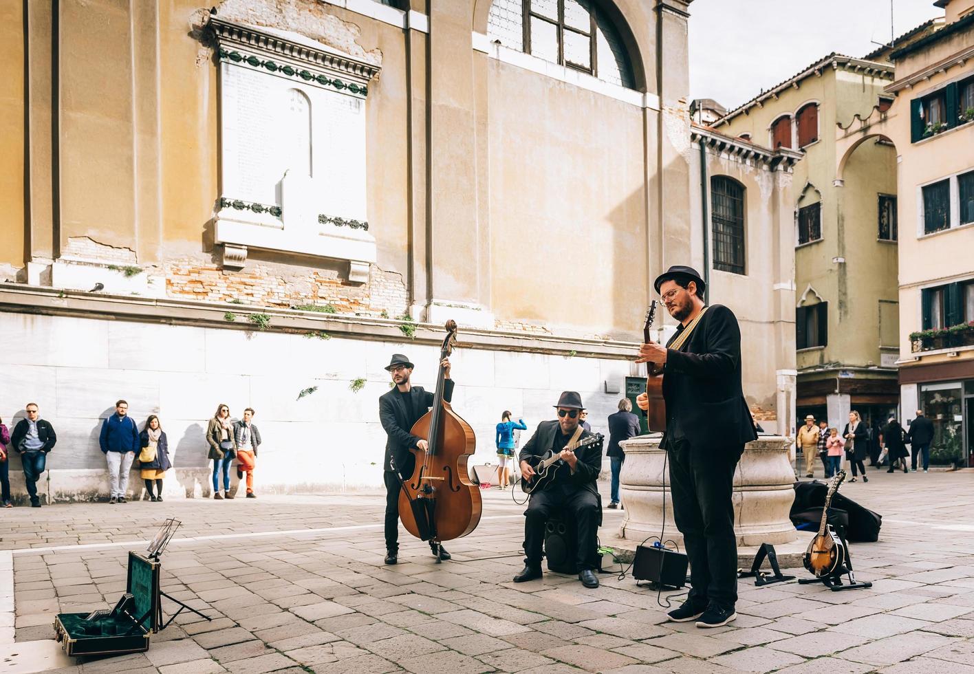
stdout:
[[524,570],[514,577],[514,582],[542,577],[544,524],[549,515],[559,513],[567,522],[575,520],[579,527],[578,562],[581,584],[585,587],[598,587],[594,558],[600,506],[595,483],[599,470],[602,469],[602,444],[596,442],[580,447],[577,453],[566,450],[565,447],[573,438],[578,441],[592,433],[582,431],[579,427],[580,413],[584,409],[579,393],[562,393],[555,407],[558,410],[558,420],[539,424],[538,430],[518,456],[521,474],[525,479],[530,479],[535,474],[534,468],[526,460],[530,457],[542,458],[548,450],[555,454],[560,453],[565,466],[558,468],[553,482],[546,489],[531,495],[528,509],[524,511]]

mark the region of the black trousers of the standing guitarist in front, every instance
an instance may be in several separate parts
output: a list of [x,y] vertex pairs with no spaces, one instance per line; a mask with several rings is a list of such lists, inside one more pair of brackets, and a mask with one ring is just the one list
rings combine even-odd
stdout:
[[737,602],[737,537],[733,531],[733,473],[742,445],[668,450],[673,519],[691,567],[689,600],[731,608]]

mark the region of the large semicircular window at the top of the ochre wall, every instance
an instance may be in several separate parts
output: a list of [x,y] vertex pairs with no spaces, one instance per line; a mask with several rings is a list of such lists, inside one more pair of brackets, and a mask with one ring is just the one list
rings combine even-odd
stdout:
[[635,88],[618,30],[592,0],[494,0],[487,36],[510,49]]

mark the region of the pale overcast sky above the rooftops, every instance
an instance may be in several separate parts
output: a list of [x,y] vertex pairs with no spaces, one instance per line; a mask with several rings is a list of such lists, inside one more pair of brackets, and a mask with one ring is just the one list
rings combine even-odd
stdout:
[[[892,0],[895,34],[942,17],[933,0]],[[822,56],[888,43],[890,0],[693,0],[691,98],[731,110]]]

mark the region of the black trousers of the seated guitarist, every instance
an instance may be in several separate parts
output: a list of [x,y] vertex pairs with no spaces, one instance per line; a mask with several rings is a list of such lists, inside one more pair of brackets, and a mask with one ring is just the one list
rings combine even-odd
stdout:
[[524,556],[529,566],[542,563],[544,525],[552,512],[561,515],[570,525],[579,527],[579,570],[595,569],[592,554],[598,541],[599,500],[585,488],[556,484],[531,496],[524,511]]

